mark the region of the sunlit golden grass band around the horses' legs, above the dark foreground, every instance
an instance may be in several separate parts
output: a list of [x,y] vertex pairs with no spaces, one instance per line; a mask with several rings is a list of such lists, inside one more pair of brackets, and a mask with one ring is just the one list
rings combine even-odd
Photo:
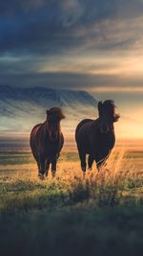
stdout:
[[137,170],[126,151],[112,151],[100,172],[95,165],[83,176],[79,162],[58,164],[55,178],[40,180],[35,165],[30,172],[3,175],[0,178],[0,208],[43,208],[79,202],[97,206],[114,206],[126,200],[141,200],[143,173]]

